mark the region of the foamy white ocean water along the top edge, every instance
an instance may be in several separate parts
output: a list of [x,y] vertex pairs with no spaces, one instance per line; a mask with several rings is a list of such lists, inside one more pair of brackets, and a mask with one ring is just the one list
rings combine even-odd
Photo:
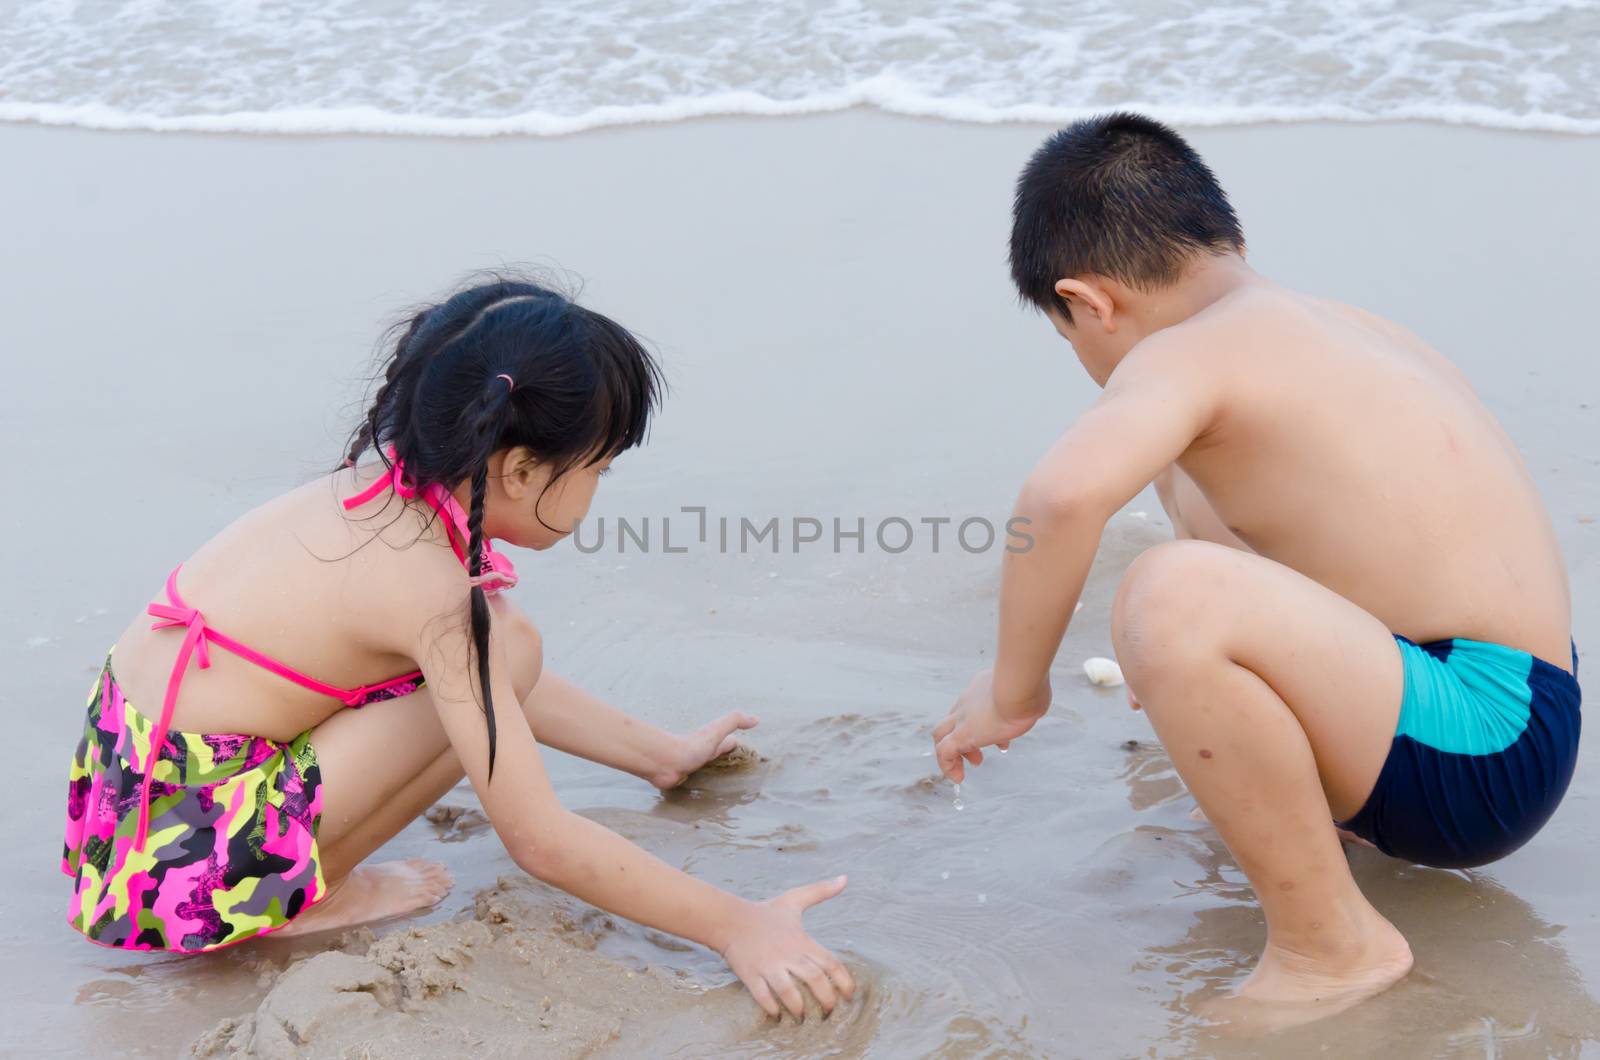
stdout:
[[1600,133],[1587,0],[10,6],[0,120],[99,130],[558,136],[851,107],[978,123],[1128,107],[1178,125]]

